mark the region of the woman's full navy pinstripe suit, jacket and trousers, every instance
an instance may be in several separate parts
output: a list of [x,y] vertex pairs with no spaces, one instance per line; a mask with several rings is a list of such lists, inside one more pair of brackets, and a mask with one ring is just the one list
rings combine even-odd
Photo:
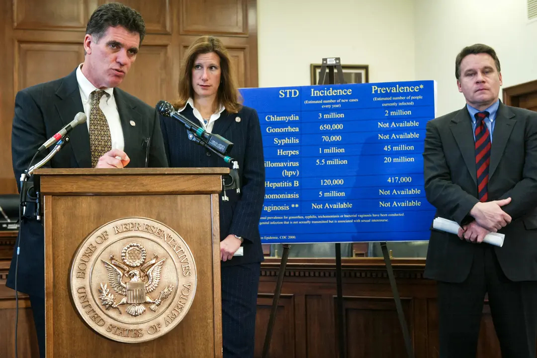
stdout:
[[[190,105],[181,113],[198,122]],[[228,166],[215,154],[188,140],[182,123],[161,116],[161,129],[170,167]],[[244,238],[244,255],[222,262],[224,358],[248,358],[253,357],[257,290],[263,261],[259,217],[265,196],[265,164],[257,112],[249,107],[238,113],[224,111],[212,132],[234,143],[229,155],[237,160],[241,180],[241,194],[228,191],[229,201],[220,201],[220,240],[230,234]]]

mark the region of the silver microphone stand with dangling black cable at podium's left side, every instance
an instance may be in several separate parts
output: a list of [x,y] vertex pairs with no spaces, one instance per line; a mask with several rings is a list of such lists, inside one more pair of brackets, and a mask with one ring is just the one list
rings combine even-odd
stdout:
[[[40,201],[39,201],[39,192],[35,192],[34,182],[29,182],[28,178],[30,178],[33,174],[33,172],[36,169],[39,169],[43,165],[47,164],[52,157],[60,150],[62,149],[63,145],[65,145],[67,142],[69,142],[69,136],[64,136],[61,140],[59,140],[56,145],[54,146],[53,150],[49,152],[49,154],[40,160],[35,165],[32,165],[35,158],[39,154],[39,151],[35,153],[32,160],[30,160],[30,164],[28,164],[28,169],[21,174],[20,176],[20,203],[19,203],[19,238],[18,238],[18,245],[17,245],[17,257],[15,259],[15,302],[16,302],[16,312],[15,312],[15,357],[18,357],[18,323],[19,323],[19,291],[17,290],[17,274],[19,269],[19,254],[20,254],[20,240],[21,240],[21,229],[23,227],[23,220],[26,217],[26,204],[28,203],[28,198],[35,200],[35,213],[33,216],[37,219],[37,221],[41,221],[41,207],[40,207]],[[35,195],[35,197],[33,196]]]

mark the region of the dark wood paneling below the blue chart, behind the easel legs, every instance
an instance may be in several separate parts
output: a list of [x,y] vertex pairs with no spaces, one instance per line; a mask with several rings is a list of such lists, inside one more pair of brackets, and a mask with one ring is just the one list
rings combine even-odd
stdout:
[[[336,268],[333,259],[289,259],[270,346],[271,358],[337,358]],[[393,259],[416,358],[437,358],[436,283],[423,278],[425,259]],[[261,266],[256,357],[263,351],[280,259]],[[343,320],[347,358],[406,358],[386,265],[381,258],[343,258]],[[485,298],[477,358],[500,358]]]

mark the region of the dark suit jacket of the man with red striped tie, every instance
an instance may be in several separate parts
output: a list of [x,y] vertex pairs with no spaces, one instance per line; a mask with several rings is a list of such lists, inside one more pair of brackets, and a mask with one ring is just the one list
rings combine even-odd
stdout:
[[[502,209],[512,222],[499,230],[495,247],[504,274],[512,281],[537,280],[537,113],[500,103],[492,133],[489,201],[511,198]],[[478,202],[475,141],[466,106],[427,123],[424,178],[427,200],[436,216],[466,224]],[[479,245],[432,230],[425,277],[462,282]]]

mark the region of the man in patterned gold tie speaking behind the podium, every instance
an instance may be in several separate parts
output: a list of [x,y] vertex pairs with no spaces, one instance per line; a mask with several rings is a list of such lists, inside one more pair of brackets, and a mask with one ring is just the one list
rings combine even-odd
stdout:
[[[117,87],[126,76],[145,35],[139,13],[110,3],[93,12],[84,37],[84,63],[70,75],[17,93],[12,128],[13,170],[18,180],[35,152],[78,112],[88,121],[76,126],[70,142],[50,160],[53,168],[166,167],[162,133],[154,108]],[[45,157],[43,152],[34,164]],[[45,356],[43,227],[31,215],[21,223],[6,285],[30,295],[41,357]]]

